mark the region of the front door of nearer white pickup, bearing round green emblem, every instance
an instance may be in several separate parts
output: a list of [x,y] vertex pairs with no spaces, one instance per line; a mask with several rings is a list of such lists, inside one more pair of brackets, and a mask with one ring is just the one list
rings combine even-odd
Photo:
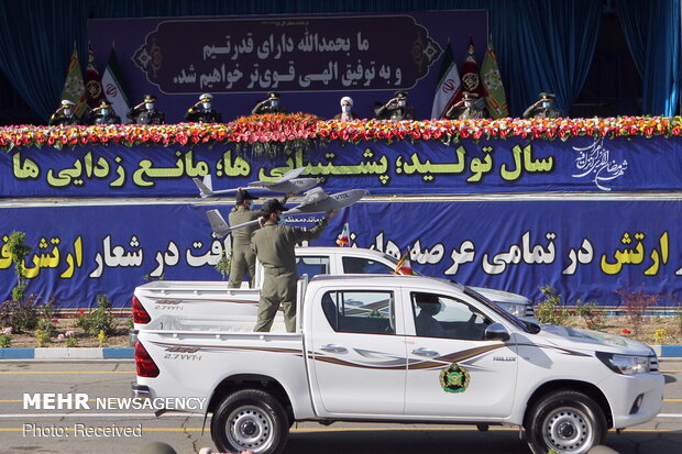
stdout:
[[450,418],[508,416],[516,389],[516,346],[484,340],[492,320],[464,296],[411,291],[409,298],[406,309],[411,306],[413,313],[406,315],[406,332],[415,335],[407,340],[405,412]]

